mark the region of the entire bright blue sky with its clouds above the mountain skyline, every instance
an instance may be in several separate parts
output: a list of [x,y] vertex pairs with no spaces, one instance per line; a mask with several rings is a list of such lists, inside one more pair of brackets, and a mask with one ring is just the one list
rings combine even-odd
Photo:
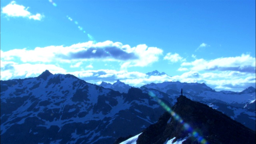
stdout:
[[1,0],[1,80],[48,69],[241,91],[255,87],[255,17],[255,0]]

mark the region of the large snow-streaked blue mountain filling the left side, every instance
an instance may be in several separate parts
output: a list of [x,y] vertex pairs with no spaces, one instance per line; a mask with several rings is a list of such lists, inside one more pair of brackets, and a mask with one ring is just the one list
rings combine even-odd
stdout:
[[1,80],[0,88],[1,143],[109,144],[164,113],[138,88],[121,94],[48,70],[36,78]]

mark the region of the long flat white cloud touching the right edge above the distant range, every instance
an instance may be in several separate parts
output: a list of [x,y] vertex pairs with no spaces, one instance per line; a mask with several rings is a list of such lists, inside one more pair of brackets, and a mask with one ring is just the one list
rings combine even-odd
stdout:
[[193,62],[183,62],[181,66],[189,66],[190,70],[202,71],[238,71],[255,73],[255,58],[249,54],[242,54],[241,56],[216,58],[214,60],[197,59]]

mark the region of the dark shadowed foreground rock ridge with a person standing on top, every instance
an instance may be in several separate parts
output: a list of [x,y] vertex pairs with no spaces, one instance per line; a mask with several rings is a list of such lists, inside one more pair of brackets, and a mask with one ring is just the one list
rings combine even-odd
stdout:
[[[181,124],[165,112],[156,124],[150,125],[138,136],[137,144],[164,144],[174,137],[176,141],[192,135],[193,131],[198,132],[210,144],[254,144],[256,142],[255,131],[185,96],[177,98],[177,103],[172,110],[184,120],[184,123],[191,126],[190,132],[184,130],[184,123]],[[191,143],[199,144],[200,142],[193,136],[182,142],[182,144]]]

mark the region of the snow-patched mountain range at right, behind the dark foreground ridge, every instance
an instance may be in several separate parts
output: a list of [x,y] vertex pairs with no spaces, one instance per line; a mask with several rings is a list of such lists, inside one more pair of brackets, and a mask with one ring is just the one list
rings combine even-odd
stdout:
[[[142,90],[155,89],[174,97],[180,94],[181,88],[183,89],[183,94],[190,100],[207,104],[248,128],[256,130],[256,90],[253,87],[249,87],[242,92],[216,92],[206,86],[206,84],[181,82],[151,83],[141,87]],[[175,99],[174,102],[176,102]]]

